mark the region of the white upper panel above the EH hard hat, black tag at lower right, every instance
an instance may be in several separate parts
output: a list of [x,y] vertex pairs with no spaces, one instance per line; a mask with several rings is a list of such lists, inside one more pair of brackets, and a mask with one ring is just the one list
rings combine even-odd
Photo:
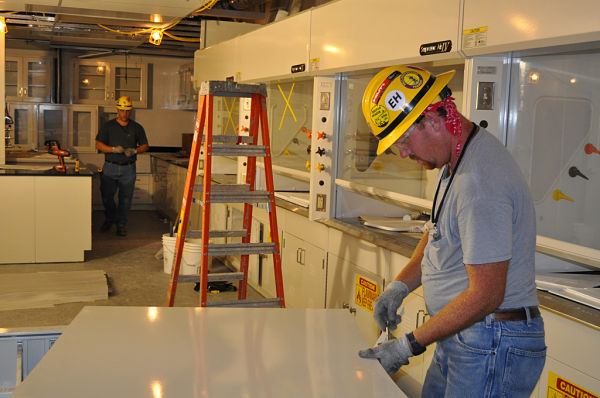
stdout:
[[457,58],[459,0],[343,0],[312,10],[311,70]]

